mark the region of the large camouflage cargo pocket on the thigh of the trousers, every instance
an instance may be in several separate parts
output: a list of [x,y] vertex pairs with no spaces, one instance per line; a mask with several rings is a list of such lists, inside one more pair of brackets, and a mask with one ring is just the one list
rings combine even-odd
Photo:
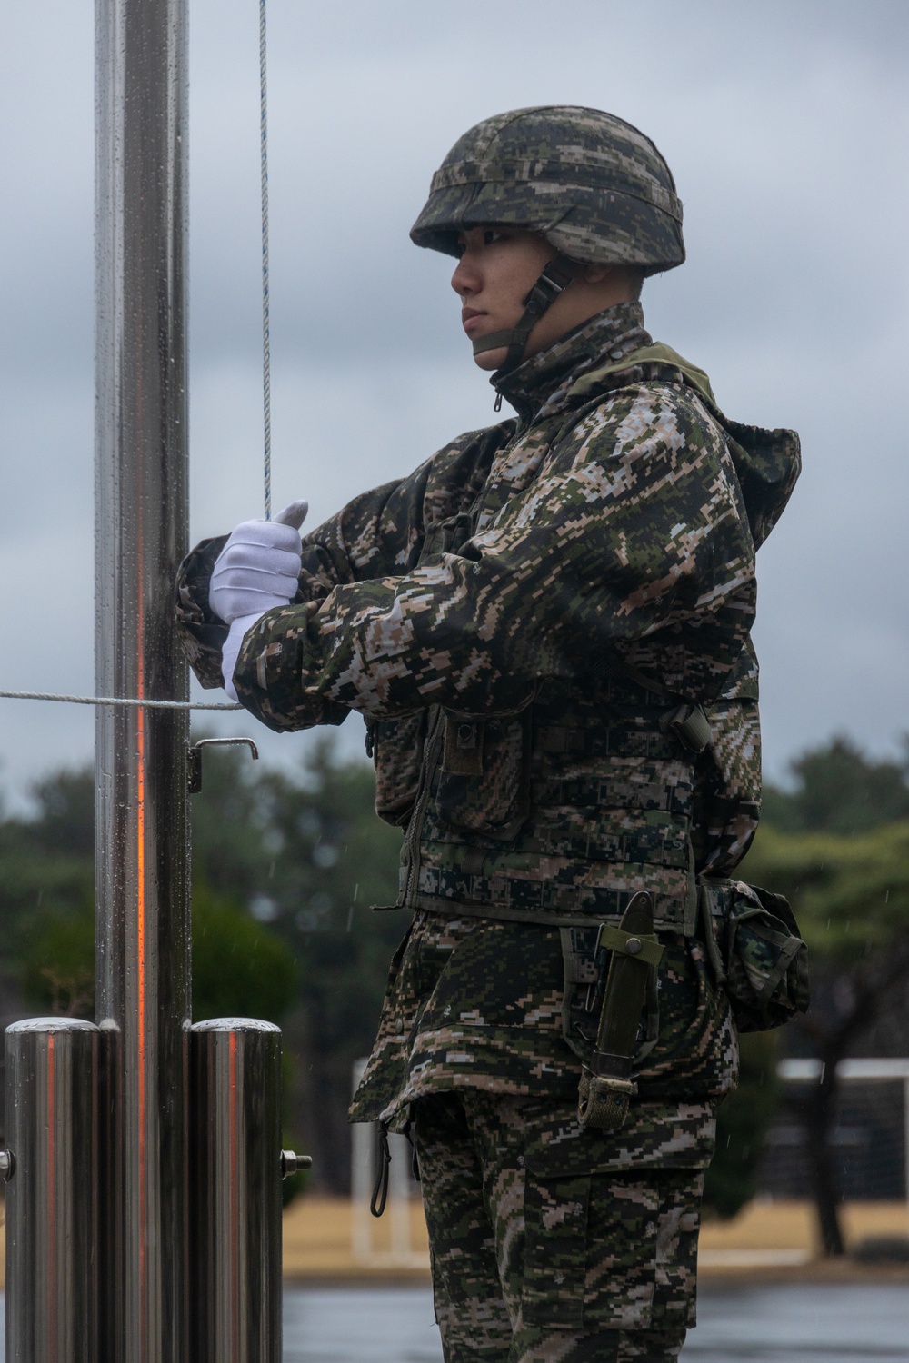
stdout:
[[[530,1161],[529,1161],[530,1163]],[[700,1169],[527,1171],[522,1317],[574,1330],[695,1319]]]

